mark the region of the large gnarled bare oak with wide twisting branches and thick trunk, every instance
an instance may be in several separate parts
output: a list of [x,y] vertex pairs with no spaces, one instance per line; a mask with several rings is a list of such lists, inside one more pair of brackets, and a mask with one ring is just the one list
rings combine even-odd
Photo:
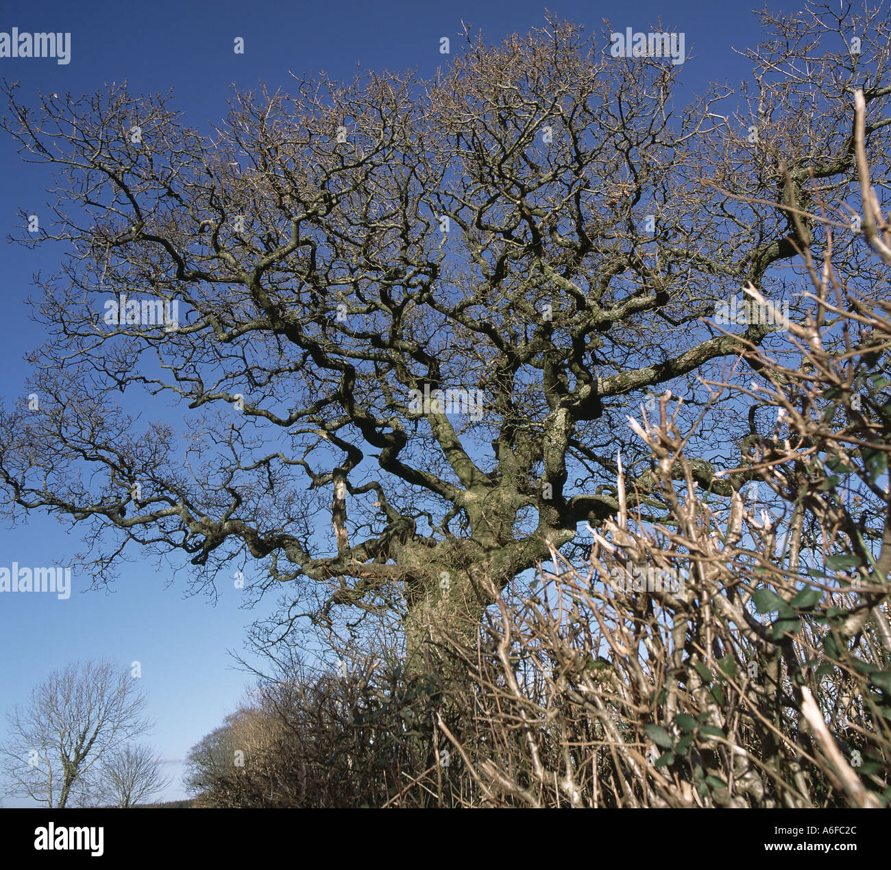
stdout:
[[[59,170],[33,241],[67,246],[35,303],[38,406],[0,417],[14,510],[86,527],[99,581],[133,544],[208,583],[256,560],[258,593],[296,584],[285,629],[395,612],[414,665],[432,621],[476,624],[481,573],[503,588],[584,553],[580,524],[617,511],[617,449],[629,505],[658,517],[625,429],[648,392],[686,398],[680,428],[706,408],[686,455],[731,498],[747,472],[715,472],[756,421],[701,379],[757,373],[743,351],[779,327],[708,318],[747,283],[800,314],[813,202],[846,226],[858,195],[857,87],[885,172],[887,21],[807,8],[764,12],[750,80],[680,108],[683,66],[560,21],[469,36],[428,82],[238,94],[212,136],[125,86],[36,111],[8,86],[4,127]],[[887,268],[849,233],[836,268],[869,295]],[[152,397],[183,438],[137,425]]]

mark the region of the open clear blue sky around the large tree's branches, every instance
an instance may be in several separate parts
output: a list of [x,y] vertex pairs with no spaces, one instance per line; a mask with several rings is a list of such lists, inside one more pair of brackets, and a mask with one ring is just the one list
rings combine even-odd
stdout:
[[[685,88],[699,91],[708,81],[735,85],[746,78],[746,62],[733,49],[756,45],[760,39],[759,21],[749,12],[753,5],[750,0],[721,4],[4,0],[0,32],[13,27],[20,32],[69,32],[71,60],[60,65],[52,59],[0,58],[0,77],[20,80],[20,99],[30,104],[37,103],[38,90],[77,97],[125,79],[131,94],[166,93],[173,88],[184,121],[204,127],[225,116],[233,85],[249,89],[267,83],[270,90],[287,89],[290,71],[299,75],[320,69],[332,78],[350,78],[356,63],[374,70],[417,68],[426,77],[447,60],[439,53],[440,37],[451,38],[454,52],[461,50],[462,20],[474,30],[482,29],[487,39],[500,41],[511,32],[525,33],[543,25],[547,7],[589,32],[599,31],[603,18],[620,31],[656,29],[653,25],[661,18],[664,29],[685,34],[687,53],[695,56],[684,64],[681,78]],[[244,38],[243,54],[233,53],[235,37]],[[0,235],[4,240],[7,234],[19,238],[17,210],[45,212],[48,174],[45,167],[21,162],[4,134],[0,134],[0,166]],[[32,275],[38,270],[51,273],[61,251],[48,245],[32,251],[5,241],[0,244],[7,306],[0,342],[4,373],[0,392],[8,405],[26,378],[22,355],[44,339],[40,327],[29,321],[24,301],[39,292]],[[78,545],[79,539],[69,537],[66,527],[34,516],[28,525],[0,528],[0,566],[68,564]],[[69,661],[110,657],[129,665],[138,660],[151,712],[158,720],[151,739],[162,756],[171,759],[169,769],[175,775],[164,799],[176,800],[184,797],[179,777],[185,753],[234,709],[249,684],[226,651],[241,649],[245,628],[262,610],[241,609],[241,593],[228,577],[220,579],[216,605],[201,596],[186,597],[184,579],[168,584],[169,578],[159,575],[152,563],[135,563],[122,571],[109,593],[82,592],[85,579],[75,576],[67,601],[52,595],[0,596],[0,712],[26,700],[33,685]],[[0,737],[4,733],[2,719]]]

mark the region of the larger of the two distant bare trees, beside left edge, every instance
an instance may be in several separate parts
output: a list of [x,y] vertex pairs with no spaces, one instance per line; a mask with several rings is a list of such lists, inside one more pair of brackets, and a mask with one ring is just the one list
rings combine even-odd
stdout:
[[64,808],[85,787],[94,766],[150,726],[142,690],[110,661],[55,670],[31,692],[24,709],[7,714],[0,745],[7,795]]

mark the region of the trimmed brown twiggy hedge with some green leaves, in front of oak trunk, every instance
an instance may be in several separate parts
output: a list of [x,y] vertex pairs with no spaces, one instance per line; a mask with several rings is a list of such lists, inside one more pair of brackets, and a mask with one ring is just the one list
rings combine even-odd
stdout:
[[[891,266],[860,92],[854,107],[858,217]],[[253,751],[205,780],[202,803],[891,804],[891,302],[887,283],[868,298],[838,275],[830,249],[847,227],[831,223],[822,263],[802,251],[809,310],[781,359],[753,345],[761,376],[728,367],[709,384],[715,401],[746,396],[762,427],[730,472],[751,475],[745,488],[724,500],[699,487],[692,431],[675,425],[683,398],[629,414],[661,521],[629,506],[617,456],[618,510],[588,557],[554,549],[530,588],[491,584],[472,643],[443,627],[455,677],[437,669],[437,693],[380,667],[385,647],[366,638],[317,677],[275,647],[247,727],[233,723]],[[257,723],[280,739],[252,739]]]

